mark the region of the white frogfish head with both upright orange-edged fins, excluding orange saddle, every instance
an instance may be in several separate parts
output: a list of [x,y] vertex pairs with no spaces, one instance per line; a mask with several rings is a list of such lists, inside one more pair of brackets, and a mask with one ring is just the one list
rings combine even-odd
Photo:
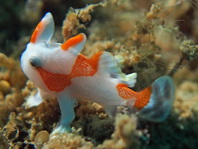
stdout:
[[21,56],[21,67],[26,76],[39,88],[47,88],[38,72],[38,68],[59,74],[68,74],[86,41],[80,33],[63,44],[51,42],[54,34],[54,20],[46,13],[36,26],[30,42]]

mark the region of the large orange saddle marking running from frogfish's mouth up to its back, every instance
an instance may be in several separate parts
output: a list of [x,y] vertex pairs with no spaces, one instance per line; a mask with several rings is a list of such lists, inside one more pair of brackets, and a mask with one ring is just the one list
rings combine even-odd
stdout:
[[75,77],[93,76],[98,71],[98,62],[102,53],[98,52],[89,59],[79,54],[70,74],[52,73],[41,67],[37,70],[50,91],[60,92],[71,85],[71,79]]

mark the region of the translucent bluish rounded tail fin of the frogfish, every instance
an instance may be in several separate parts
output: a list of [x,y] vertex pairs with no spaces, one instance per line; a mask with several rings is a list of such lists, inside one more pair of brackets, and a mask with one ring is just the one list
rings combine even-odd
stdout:
[[139,111],[143,119],[161,122],[165,120],[173,105],[175,98],[175,86],[169,76],[162,76],[151,85],[152,93],[149,102]]

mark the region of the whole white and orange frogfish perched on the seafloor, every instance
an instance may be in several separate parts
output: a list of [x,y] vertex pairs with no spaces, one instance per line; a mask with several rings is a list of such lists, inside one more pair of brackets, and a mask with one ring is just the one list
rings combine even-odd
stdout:
[[151,121],[160,122],[168,116],[175,92],[171,77],[162,76],[146,89],[135,92],[131,88],[137,74],[124,74],[113,55],[103,51],[87,58],[80,53],[85,34],[60,44],[51,42],[53,33],[54,20],[47,13],[21,57],[22,70],[39,88],[35,102],[46,93],[58,100],[61,120],[53,132],[71,131],[74,107],[80,99],[99,103],[109,116],[115,115],[117,107],[122,105]]

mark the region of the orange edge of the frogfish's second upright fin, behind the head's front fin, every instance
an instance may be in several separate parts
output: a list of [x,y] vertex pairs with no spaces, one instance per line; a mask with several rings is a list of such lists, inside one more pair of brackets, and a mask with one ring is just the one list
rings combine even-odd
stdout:
[[68,50],[70,47],[77,45],[78,43],[82,42],[84,40],[84,35],[83,34],[78,34],[75,37],[72,37],[68,39],[65,43],[61,45],[61,48],[63,50]]

